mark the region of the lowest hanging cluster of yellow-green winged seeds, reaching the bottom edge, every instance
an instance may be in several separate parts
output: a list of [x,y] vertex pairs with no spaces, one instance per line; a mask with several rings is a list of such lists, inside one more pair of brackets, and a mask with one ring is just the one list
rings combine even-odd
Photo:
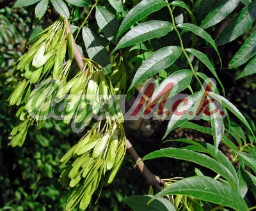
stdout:
[[[121,122],[107,120],[103,128],[100,124],[97,122],[60,160],[60,167],[66,166],[60,176],[63,186],[75,187],[67,210],[86,209],[95,190],[101,191],[113,181],[124,159],[126,142]],[[65,165],[68,161],[70,164]]]

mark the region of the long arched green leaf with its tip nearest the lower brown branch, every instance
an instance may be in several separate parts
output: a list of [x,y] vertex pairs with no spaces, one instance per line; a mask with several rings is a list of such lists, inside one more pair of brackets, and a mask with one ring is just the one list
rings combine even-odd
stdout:
[[220,173],[220,175],[226,178],[230,182],[230,184],[235,187],[235,189],[238,187],[236,178],[234,178],[234,176],[232,175],[232,173],[230,173],[227,167],[225,167],[223,164],[219,163],[215,159],[206,156],[205,154],[193,152],[186,149],[166,148],[151,152],[147,156],[143,157],[142,161],[156,159],[158,157],[170,157],[200,164],[201,166],[209,168],[216,173]]

